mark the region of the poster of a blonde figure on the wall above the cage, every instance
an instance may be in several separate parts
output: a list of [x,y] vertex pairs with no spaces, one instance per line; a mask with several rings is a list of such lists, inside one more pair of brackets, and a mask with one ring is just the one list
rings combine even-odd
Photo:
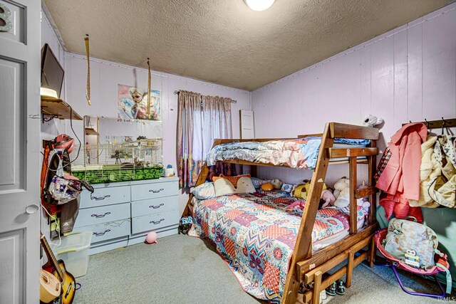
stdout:
[[150,90],[150,119],[147,112],[147,89],[118,85],[119,120],[162,120],[159,90]]

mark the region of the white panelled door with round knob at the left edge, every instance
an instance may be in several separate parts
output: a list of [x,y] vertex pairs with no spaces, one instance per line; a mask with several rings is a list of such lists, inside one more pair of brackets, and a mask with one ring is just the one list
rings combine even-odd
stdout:
[[0,303],[39,301],[39,0],[0,0]]

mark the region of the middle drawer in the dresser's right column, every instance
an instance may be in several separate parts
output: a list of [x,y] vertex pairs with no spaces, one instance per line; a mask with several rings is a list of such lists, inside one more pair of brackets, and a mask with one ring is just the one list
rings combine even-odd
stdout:
[[143,216],[178,209],[177,195],[131,202],[131,216]]

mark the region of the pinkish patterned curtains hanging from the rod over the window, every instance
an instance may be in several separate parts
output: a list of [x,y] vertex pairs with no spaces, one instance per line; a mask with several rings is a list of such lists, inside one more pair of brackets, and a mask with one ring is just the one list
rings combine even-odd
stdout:
[[231,138],[231,99],[180,91],[177,110],[179,186],[195,186],[214,139]]

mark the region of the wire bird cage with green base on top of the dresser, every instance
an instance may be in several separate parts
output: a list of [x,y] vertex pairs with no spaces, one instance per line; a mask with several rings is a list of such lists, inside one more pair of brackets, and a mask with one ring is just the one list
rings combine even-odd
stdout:
[[[77,149],[71,157],[76,157]],[[162,139],[86,145],[72,160],[73,175],[90,184],[157,179],[163,168]]]

